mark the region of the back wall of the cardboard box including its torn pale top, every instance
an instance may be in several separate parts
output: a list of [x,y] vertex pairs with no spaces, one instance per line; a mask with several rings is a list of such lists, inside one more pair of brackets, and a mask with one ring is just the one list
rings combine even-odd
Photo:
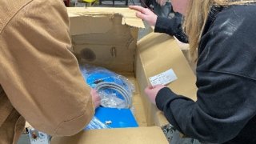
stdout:
[[79,62],[116,72],[134,71],[138,27],[135,11],[128,8],[70,7],[70,35]]

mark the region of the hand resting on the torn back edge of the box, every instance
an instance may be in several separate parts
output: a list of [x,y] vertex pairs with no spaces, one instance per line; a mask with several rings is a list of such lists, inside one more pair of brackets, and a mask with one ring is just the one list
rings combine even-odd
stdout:
[[154,14],[150,9],[146,9],[142,6],[129,6],[132,10],[137,10],[136,16],[146,21],[150,26],[155,26],[158,16]]

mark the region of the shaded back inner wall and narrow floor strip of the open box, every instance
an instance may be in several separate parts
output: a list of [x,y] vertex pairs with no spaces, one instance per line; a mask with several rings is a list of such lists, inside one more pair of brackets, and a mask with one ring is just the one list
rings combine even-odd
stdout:
[[[73,14],[82,13],[78,9],[74,11]],[[135,78],[138,27],[122,25],[122,14],[109,14],[106,11],[101,16],[95,17],[95,14],[84,14],[70,19],[70,34],[78,62],[102,66],[128,78],[135,88],[133,95],[134,116],[139,126],[148,126],[143,99],[138,88],[138,81]],[[81,27],[82,30],[74,32],[74,23],[76,29]],[[86,28],[89,30],[84,30]],[[81,31],[83,32],[81,33]]]

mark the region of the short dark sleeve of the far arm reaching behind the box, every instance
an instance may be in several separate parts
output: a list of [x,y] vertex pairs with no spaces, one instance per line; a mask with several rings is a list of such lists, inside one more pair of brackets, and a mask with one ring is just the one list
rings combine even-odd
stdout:
[[182,30],[182,14],[176,13],[174,18],[158,17],[154,32],[175,36],[179,41],[188,43],[188,38]]

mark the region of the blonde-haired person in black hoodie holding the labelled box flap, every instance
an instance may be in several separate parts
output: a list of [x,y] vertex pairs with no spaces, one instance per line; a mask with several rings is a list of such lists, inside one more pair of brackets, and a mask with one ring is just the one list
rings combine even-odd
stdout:
[[256,143],[255,2],[172,0],[185,16],[197,62],[197,101],[161,85],[145,92],[182,134],[201,142]]

